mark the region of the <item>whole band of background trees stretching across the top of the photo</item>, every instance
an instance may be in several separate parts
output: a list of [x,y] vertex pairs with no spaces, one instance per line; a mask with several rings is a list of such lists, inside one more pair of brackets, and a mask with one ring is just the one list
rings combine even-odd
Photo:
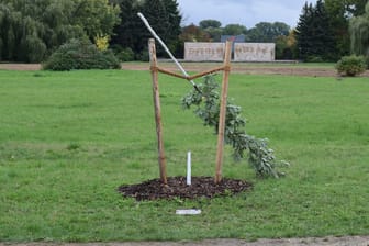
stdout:
[[[217,20],[181,26],[177,0],[1,0],[0,62],[37,63],[71,38],[109,38],[121,60],[147,59],[150,35],[137,12],[178,57],[185,42],[220,42],[222,35],[273,42],[277,59],[335,62],[351,53],[369,54],[368,0],[306,2],[294,29],[282,22],[222,26]],[[158,55],[165,56],[159,47]]]

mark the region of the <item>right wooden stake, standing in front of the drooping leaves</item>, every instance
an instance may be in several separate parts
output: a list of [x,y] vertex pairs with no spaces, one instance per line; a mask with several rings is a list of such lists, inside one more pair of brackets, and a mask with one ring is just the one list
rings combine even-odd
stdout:
[[225,43],[224,72],[223,72],[223,81],[222,81],[220,121],[219,121],[219,128],[217,128],[216,169],[215,169],[215,180],[214,180],[215,183],[219,183],[220,181],[222,181],[225,115],[226,115],[226,103],[227,103],[227,94],[228,94],[228,79],[230,79],[230,71],[231,71],[231,52],[232,52],[232,42],[227,41]]

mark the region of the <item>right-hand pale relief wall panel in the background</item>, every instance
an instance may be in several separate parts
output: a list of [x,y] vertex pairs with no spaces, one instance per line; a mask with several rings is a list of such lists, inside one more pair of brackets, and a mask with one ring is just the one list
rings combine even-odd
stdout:
[[276,44],[273,43],[235,43],[235,62],[273,62]]

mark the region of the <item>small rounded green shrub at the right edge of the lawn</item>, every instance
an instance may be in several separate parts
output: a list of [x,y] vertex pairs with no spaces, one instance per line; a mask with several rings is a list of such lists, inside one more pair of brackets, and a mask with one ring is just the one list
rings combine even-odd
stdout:
[[339,75],[355,77],[366,70],[366,60],[364,56],[344,56],[336,64]]

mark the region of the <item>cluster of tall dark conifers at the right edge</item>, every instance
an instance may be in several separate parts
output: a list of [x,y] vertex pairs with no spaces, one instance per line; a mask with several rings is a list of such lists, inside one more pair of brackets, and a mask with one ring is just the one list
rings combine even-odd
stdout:
[[[331,62],[350,53],[369,55],[368,52],[357,53],[356,45],[350,46],[351,43],[360,43],[357,46],[362,46],[365,38],[368,40],[368,35],[361,36],[364,43],[351,38],[358,32],[357,20],[360,20],[360,23],[366,20],[364,22],[367,23],[367,27],[364,30],[369,32],[369,20],[365,18],[369,13],[366,13],[366,4],[369,8],[368,0],[317,0],[315,4],[306,2],[295,29],[299,58]],[[368,45],[365,46],[368,48]]]

